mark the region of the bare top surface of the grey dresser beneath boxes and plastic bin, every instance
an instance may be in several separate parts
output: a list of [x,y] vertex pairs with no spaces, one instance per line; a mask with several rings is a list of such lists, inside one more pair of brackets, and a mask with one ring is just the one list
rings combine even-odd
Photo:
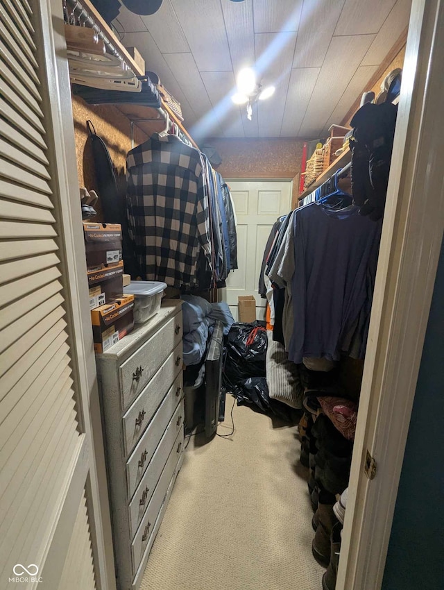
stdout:
[[119,360],[133,353],[141,344],[155,334],[157,330],[171,317],[175,316],[182,307],[180,299],[164,299],[160,310],[146,323],[135,326],[134,330],[113,344],[108,351],[96,354],[96,360]]

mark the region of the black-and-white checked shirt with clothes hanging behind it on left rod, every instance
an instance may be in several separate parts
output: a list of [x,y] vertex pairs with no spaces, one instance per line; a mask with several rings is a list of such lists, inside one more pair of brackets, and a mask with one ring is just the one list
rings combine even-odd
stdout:
[[228,187],[197,149],[155,133],[128,153],[127,217],[139,276],[182,292],[225,287],[237,267]]

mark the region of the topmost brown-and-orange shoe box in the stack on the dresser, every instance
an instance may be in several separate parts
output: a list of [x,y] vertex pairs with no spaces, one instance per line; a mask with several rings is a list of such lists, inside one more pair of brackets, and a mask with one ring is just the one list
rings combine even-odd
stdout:
[[120,224],[92,224],[83,221],[86,265],[117,264],[122,260],[122,228]]

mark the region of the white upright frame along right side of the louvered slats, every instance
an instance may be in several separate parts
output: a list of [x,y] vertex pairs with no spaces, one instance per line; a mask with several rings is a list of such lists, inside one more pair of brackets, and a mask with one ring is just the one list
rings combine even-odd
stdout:
[[[67,330],[73,358],[74,389],[78,394],[80,430],[85,433],[86,452],[79,461],[87,463],[86,487],[92,548],[98,590],[115,590],[114,557],[105,453],[99,410],[94,346],[90,324],[87,290],[85,246],[80,212],[80,196],[76,168],[74,123],[71,108],[71,87],[66,58],[65,31],[60,0],[39,0],[36,13],[42,23],[40,51],[46,67],[50,106],[46,115],[52,127],[50,143],[53,186],[58,207],[55,210],[60,232],[60,257],[65,283]],[[90,449],[90,450],[89,450]],[[85,465],[86,466],[86,465]],[[76,469],[75,473],[84,473]],[[78,501],[80,502],[79,496]],[[69,498],[67,498],[67,501]],[[76,519],[76,509],[65,509]],[[65,521],[66,523],[66,521]],[[66,532],[66,531],[65,531]]]

